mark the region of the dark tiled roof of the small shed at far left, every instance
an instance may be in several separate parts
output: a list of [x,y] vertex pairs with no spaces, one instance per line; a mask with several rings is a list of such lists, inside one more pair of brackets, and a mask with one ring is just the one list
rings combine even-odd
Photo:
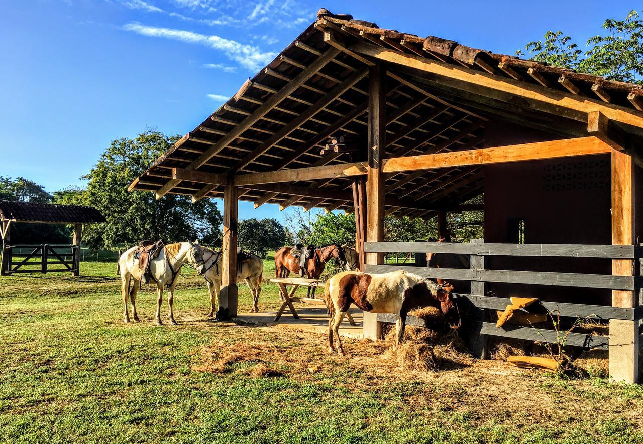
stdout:
[[98,209],[90,206],[9,202],[8,200],[0,200],[0,219],[43,224],[107,222]]

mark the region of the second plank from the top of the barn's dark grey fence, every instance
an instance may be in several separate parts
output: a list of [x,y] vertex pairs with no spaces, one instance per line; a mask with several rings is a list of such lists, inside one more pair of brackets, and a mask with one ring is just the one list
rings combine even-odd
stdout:
[[399,265],[367,265],[369,273],[406,271],[424,278],[440,278],[446,281],[476,281],[494,283],[521,283],[528,285],[552,285],[555,287],[581,287],[584,289],[628,290],[640,288],[640,280],[633,276],[610,276],[604,274],[556,273],[540,271],[471,270],[446,268],[400,267]]

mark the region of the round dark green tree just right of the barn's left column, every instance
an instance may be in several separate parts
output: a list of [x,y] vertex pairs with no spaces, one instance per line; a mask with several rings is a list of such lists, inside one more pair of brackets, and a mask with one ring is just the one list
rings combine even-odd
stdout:
[[268,251],[283,247],[286,240],[284,227],[273,218],[240,220],[238,233],[239,246],[263,259]]

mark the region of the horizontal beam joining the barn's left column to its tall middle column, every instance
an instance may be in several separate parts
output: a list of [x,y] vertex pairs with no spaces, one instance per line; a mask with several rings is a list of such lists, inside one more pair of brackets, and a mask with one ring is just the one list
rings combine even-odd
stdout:
[[334,177],[351,177],[367,173],[363,162],[340,163],[332,165],[309,166],[278,170],[263,173],[237,174],[233,177],[235,186],[266,184],[273,182],[312,181],[314,179],[331,179]]

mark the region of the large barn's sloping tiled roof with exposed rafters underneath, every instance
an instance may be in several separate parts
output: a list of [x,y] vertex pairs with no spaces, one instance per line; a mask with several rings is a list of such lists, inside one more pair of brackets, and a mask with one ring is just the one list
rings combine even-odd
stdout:
[[[327,36],[343,42],[338,49]],[[332,40],[331,39],[331,40]],[[562,106],[570,101],[586,107],[604,105],[643,121],[640,85],[612,82],[458,44],[438,37],[418,37],[379,28],[372,22],[334,15],[325,9],[267,67],[248,79],[228,102],[186,134],[141,174],[130,189],[222,197],[222,186],[172,179],[172,168],[224,175],[266,172],[305,166],[346,163],[349,154],[323,154],[329,136],[367,140],[368,66],[374,61],[350,48],[387,51],[404,60],[418,58],[444,73],[423,73],[404,63],[388,63],[386,154],[397,157],[484,147],[485,127],[502,121],[541,130],[552,136],[586,135],[587,113]],[[538,100],[487,85],[450,78],[462,71],[480,80],[505,82],[535,91]],[[492,94],[493,93],[493,94]],[[643,134],[635,125],[620,125]],[[642,125],[643,126],[643,125]],[[363,157],[366,151],[364,150]],[[359,155],[358,155],[359,157]],[[460,204],[482,192],[481,168],[451,168],[386,177],[386,213],[428,217],[426,208]],[[241,200],[352,209],[345,177],[289,184],[242,187]]]

